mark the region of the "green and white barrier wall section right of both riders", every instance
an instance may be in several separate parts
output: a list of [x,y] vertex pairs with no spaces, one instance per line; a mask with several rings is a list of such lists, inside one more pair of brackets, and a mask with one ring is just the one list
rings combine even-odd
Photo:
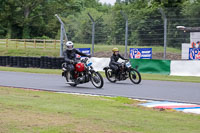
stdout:
[[131,65],[141,73],[167,74],[173,76],[200,76],[198,60],[148,60],[131,59]]

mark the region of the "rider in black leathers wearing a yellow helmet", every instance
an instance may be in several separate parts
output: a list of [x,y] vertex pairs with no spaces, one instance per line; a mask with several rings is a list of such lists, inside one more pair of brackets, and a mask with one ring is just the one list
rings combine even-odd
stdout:
[[121,58],[122,60],[128,60],[128,59],[125,59],[123,56],[119,54],[118,48],[113,48],[112,52],[113,52],[113,55],[110,57],[109,66],[114,71],[115,79],[119,79],[119,68],[122,65],[122,63],[117,62],[117,61],[119,60],[119,58]]

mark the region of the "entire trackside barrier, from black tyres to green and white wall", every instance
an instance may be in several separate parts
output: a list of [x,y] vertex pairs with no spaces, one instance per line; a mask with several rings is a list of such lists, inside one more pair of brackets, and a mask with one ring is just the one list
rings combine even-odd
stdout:
[[[109,65],[110,58],[92,57],[93,67],[97,71]],[[122,60],[119,60],[122,61]],[[141,73],[167,74],[174,76],[200,76],[200,61],[170,61],[153,59],[131,59],[131,65]],[[0,66],[33,67],[61,69],[62,57],[18,57],[0,56]]]

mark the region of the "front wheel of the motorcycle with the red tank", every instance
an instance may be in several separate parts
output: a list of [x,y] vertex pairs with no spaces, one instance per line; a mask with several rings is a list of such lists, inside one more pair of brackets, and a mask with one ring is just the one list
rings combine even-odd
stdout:
[[101,76],[101,74],[99,72],[92,72],[90,80],[96,88],[103,87],[103,84],[104,84],[103,77]]

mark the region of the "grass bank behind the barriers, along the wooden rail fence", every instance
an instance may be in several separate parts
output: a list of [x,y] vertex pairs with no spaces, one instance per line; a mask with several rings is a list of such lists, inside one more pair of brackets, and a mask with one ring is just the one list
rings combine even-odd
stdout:
[[[56,44],[56,49],[54,49],[53,44],[47,43],[46,48],[44,44],[37,44],[37,47],[34,47],[34,43],[27,43],[27,47],[24,47],[24,43],[20,42],[18,47],[16,47],[15,41],[9,41],[8,47],[6,47],[5,43],[0,42],[0,56],[53,56],[58,57],[60,54],[59,43]],[[113,47],[118,47],[121,53],[124,53],[125,46],[124,45],[103,45],[96,44],[94,48],[94,52],[111,52]],[[91,44],[75,44],[75,48],[91,48]],[[129,48],[152,48],[153,53],[163,53],[163,47],[161,46],[128,46]],[[167,48],[167,53],[181,53],[180,49],[176,48]]]

